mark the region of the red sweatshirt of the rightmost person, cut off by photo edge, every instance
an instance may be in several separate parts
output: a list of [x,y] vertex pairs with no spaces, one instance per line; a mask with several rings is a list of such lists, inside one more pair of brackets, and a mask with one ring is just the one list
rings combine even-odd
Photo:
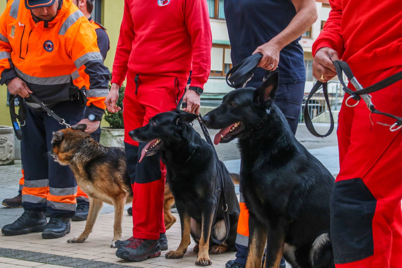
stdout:
[[356,77],[402,65],[401,0],[329,0],[332,10],[313,44],[338,52]]

